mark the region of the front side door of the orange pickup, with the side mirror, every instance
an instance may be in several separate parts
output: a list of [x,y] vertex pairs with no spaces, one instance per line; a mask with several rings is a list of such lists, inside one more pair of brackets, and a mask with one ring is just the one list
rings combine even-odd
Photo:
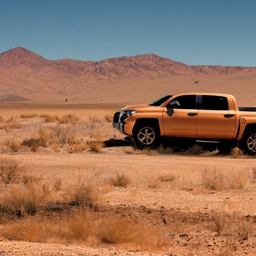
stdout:
[[196,95],[173,98],[163,110],[165,136],[196,136]]

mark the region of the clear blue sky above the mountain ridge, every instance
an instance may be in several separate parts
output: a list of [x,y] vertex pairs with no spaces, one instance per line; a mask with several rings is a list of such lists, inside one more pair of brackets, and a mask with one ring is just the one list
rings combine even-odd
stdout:
[[0,0],[0,52],[256,66],[256,0]]

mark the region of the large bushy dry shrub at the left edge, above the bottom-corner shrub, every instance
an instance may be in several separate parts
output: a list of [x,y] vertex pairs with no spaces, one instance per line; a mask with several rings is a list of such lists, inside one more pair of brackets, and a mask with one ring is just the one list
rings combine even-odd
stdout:
[[10,191],[2,198],[1,212],[9,217],[33,215],[43,201],[43,194],[38,186],[12,185]]

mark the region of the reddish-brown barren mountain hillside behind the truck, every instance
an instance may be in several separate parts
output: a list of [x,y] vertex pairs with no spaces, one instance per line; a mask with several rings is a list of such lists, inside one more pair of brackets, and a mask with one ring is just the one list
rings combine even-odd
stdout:
[[255,77],[256,67],[189,66],[152,53],[96,62],[48,60],[22,47],[0,54],[0,95],[43,102],[147,102],[195,90],[245,93],[247,100]]

